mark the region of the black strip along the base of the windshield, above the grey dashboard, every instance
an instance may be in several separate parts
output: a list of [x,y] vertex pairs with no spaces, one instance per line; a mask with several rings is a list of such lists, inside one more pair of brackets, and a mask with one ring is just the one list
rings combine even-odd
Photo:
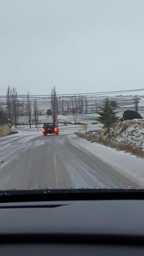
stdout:
[[58,200],[144,200],[144,189],[39,189],[0,191],[0,203]]

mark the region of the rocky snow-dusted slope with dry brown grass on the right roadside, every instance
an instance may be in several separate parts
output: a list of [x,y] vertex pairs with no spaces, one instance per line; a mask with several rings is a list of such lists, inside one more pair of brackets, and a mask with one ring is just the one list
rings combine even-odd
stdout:
[[97,142],[144,158],[144,119],[127,120],[116,124],[110,130],[111,142],[106,128],[92,135],[78,133],[77,136],[91,143]]

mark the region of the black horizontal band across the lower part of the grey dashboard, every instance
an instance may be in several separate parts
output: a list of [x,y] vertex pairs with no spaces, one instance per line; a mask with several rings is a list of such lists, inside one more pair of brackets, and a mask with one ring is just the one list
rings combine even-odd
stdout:
[[0,244],[4,243],[144,245],[144,237],[114,234],[1,234]]

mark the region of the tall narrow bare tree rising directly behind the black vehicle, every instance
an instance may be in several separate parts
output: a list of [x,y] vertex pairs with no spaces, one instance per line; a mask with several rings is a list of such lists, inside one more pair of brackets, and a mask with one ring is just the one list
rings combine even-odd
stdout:
[[56,87],[54,86],[51,91],[51,109],[53,112],[53,122],[57,122],[57,107],[58,107],[58,101],[57,101],[57,92]]

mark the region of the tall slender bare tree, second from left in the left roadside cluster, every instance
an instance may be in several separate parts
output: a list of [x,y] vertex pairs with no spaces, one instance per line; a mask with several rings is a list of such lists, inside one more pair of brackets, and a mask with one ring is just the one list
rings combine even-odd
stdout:
[[12,97],[12,116],[14,119],[15,128],[17,127],[18,115],[19,115],[19,101],[18,101],[17,94],[18,94],[18,92],[17,92],[16,87],[13,87],[11,97]]

